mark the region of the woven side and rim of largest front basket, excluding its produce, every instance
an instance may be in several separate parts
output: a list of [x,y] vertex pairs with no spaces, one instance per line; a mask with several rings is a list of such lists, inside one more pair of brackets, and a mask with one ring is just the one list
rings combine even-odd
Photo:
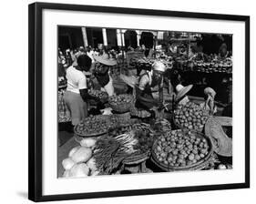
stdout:
[[153,163],[155,163],[159,168],[161,168],[164,171],[180,171],[180,170],[192,170],[192,169],[202,169],[204,168],[208,163],[209,160],[211,159],[212,153],[213,153],[213,146],[212,146],[212,141],[208,136],[205,136],[204,134],[195,131],[195,130],[187,130],[187,129],[183,129],[182,131],[191,131],[192,133],[194,133],[196,135],[197,138],[206,138],[209,144],[209,153],[205,158],[200,159],[200,161],[198,161],[195,164],[189,165],[189,166],[185,166],[185,167],[173,167],[173,166],[169,166],[166,164],[163,164],[161,162],[159,162],[156,153],[155,153],[155,149],[157,148],[157,142],[158,140],[156,140],[153,144],[152,147],[152,151],[151,151],[151,160],[153,161]]

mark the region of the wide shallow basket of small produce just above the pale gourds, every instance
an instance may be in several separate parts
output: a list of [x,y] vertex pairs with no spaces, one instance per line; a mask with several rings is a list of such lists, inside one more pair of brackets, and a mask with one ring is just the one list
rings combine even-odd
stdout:
[[83,119],[74,128],[81,137],[95,137],[108,132],[108,122],[104,117],[90,116]]

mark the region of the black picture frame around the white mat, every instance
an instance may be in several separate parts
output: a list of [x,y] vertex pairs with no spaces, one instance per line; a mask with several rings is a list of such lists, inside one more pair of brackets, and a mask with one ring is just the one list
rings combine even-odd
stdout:
[[[250,16],[247,15],[219,15],[167,10],[148,10],[137,8],[122,8],[94,5],[67,5],[51,3],[34,3],[28,6],[28,66],[29,66],[29,141],[28,141],[28,199],[34,201],[93,199],[106,197],[135,196],[147,194],[163,194],[188,191],[244,189],[250,188]],[[57,9],[80,12],[103,12],[131,15],[161,15],[173,17],[187,17],[198,19],[230,20],[245,22],[245,182],[207,185],[196,187],[179,187],[163,189],[136,189],[121,191],[105,191],[93,193],[78,193],[64,195],[42,194],[42,11]]]

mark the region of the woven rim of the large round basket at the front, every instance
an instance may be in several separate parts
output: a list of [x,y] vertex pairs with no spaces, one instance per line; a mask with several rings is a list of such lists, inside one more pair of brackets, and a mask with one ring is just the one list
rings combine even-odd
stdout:
[[153,144],[153,146],[152,146],[151,156],[154,159],[154,161],[158,164],[159,168],[162,168],[164,170],[183,170],[183,169],[188,169],[188,168],[195,168],[195,167],[201,165],[203,162],[205,162],[206,160],[208,160],[210,158],[210,156],[213,153],[213,145],[212,145],[212,141],[211,141],[210,137],[208,137],[208,136],[204,135],[203,133],[201,133],[199,131],[196,131],[196,130],[175,129],[175,130],[170,130],[170,131],[177,131],[177,130],[186,131],[186,132],[187,131],[191,131],[191,132],[196,133],[197,136],[200,135],[200,137],[202,137],[202,138],[207,138],[208,142],[209,142],[209,145],[210,145],[209,154],[205,158],[200,159],[199,162],[197,162],[195,164],[192,164],[192,165],[189,165],[189,166],[185,166],[185,167],[172,167],[172,166],[168,166],[168,165],[165,165],[163,163],[160,163],[159,160],[157,159],[157,156],[156,156],[155,151],[154,151],[156,146],[157,146],[157,142],[158,142],[158,139],[156,139],[154,144]]

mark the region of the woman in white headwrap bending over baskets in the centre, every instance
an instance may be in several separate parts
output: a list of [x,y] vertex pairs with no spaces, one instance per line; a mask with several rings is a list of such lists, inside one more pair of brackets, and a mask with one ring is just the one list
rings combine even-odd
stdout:
[[[163,74],[166,66],[157,61],[152,70],[139,76],[138,87],[136,87],[137,101],[135,106],[150,110],[152,107],[161,107],[163,103]],[[153,97],[153,92],[159,91],[159,99]]]

